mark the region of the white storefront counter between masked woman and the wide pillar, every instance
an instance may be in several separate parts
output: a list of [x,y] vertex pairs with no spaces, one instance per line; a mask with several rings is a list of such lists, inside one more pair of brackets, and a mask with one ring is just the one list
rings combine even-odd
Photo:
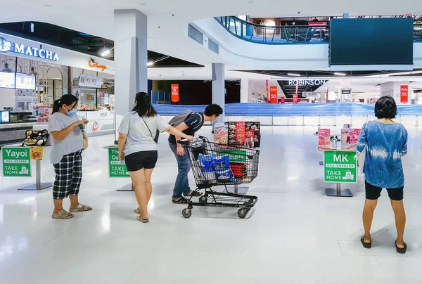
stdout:
[[77,112],[78,117],[85,117],[89,120],[87,124],[87,136],[100,136],[114,134],[115,112],[108,110],[81,110]]

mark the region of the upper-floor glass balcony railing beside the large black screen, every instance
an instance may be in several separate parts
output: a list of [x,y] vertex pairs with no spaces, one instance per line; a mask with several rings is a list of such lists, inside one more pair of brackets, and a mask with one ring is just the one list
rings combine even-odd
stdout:
[[[215,17],[234,36],[257,44],[328,44],[329,25],[268,26],[246,22],[235,16]],[[414,25],[414,41],[422,41],[422,25]]]

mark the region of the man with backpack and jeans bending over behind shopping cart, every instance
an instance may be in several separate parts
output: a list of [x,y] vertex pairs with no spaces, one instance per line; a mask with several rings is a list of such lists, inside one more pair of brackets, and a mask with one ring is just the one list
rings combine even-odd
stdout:
[[[184,134],[194,136],[195,132],[198,131],[204,124],[204,122],[213,122],[222,115],[223,109],[221,106],[212,104],[205,108],[205,112],[191,112],[186,110],[181,114],[176,115],[171,121],[170,125],[176,127]],[[202,193],[191,191],[189,187],[188,172],[191,170],[191,162],[189,162],[188,153],[185,153],[184,148],[181,144],[177,143],[180,137],[170,135],[169,145],[170,149],[174,153],[174,157],[177,160],[178,174],[174,184],[172,202],[174,204],[186,204],[188,199],[184,198],[194,196],[200,196]]]

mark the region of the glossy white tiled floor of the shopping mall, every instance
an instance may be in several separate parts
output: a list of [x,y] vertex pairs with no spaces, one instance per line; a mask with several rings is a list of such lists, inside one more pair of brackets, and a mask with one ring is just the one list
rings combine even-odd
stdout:
[[[103,146],[91,138],[84,153],[81,201],[94,211],[51,219],[51,189],[16,191],[31,179],[0,177],[0,283],[422,283],[422,141],[409,129],[404,158],[409,251],[395,252],[388,197],[378,202],[373,249],[362,235],[363,179],[354,198],[327,198],[309,127],[264,127],[258,195],[248,219],[236,209],[193,209],[181,217],[170,202],[176,162],[160,138],[149,224],[136,221],[134,193],[117,192],[127,179],[109,179]],[[209,134],[205,127],[203,134]],[[53,181],[42,162],[42,176]],[[191,179],[191,186],[193,186]],[[67,203],[68,204],[68,203]]]

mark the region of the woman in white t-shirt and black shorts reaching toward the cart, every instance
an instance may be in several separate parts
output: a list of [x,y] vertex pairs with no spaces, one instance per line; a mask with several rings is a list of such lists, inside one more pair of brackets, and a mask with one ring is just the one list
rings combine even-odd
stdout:
[[148,223],[147,205],[151,198],[153,186],[151,175],[157,163],[157,132],[166,131],[175,136],[193,140],[193,136],[186,135],[167,124],[157,114],[148,93],[136,93],[134,109],[124,116],[119,127],[119,159],[124,160],[135,188],[139,214],[138,220]]

